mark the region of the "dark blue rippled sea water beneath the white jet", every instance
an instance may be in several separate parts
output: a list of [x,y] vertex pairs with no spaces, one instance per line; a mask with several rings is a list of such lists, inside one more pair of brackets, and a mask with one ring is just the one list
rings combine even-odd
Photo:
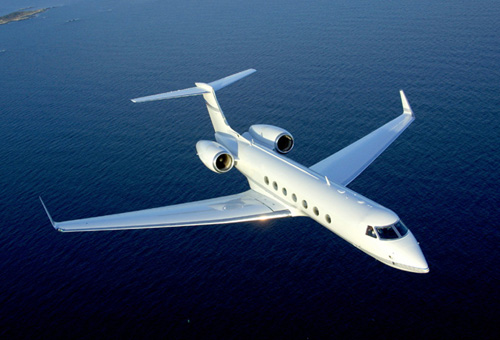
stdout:
[[[0,335],[498,338],[498,1],[5,1]],[[78,18],[78,21],[66,22]],[[312,165],[401,112],[354,190],[395,210],[430,273],[389,268],[306,218],[61,234],[56,220],[243,191],[195,143],[200,98],[133,104],[247,68],[218,96],[243,132],[291,131]]]

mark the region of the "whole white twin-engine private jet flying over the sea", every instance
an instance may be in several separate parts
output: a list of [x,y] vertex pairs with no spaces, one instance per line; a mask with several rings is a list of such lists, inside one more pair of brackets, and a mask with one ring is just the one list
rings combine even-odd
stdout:
[[[133,99],[144,102],[203,95],[215,130],[213,141],[197,144],[202,162],[212,171],[221,153],[230,153],[236,167],[248,179],[251,190],[199,202],[147,209],[124,214],[54,222],[59,231],[97,231],[179,227],[309,216],[375,259],[398,269],[426,273],[427,262],[413,234],[395,239],[380,233],[367,235],[368,226],[394,225],[399,217],[391,210],[346,188],[414,120],[401,91],[403,114],[359,141],[307,168],[276,151],[276,138],[291,135],[269,125],[254,125],[240,135],[226,121],[215,96],[221,89],[255,70],[196,87]],[[293,138],[291,139],[293,143]],[[293,145],[293,144],[292,144]],[[43,202],[42,202],[43,204]],[[375,235],[376,234],[376,235]]]

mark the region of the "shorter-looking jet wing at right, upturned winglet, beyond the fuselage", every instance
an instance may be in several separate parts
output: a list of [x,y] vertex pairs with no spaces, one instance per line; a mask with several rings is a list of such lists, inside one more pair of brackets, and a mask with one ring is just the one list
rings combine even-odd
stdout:
[[344,186],[351,183],[415,119],[404,92],[399,92],[403,103],[402,115],[310,168],[335,183]]

